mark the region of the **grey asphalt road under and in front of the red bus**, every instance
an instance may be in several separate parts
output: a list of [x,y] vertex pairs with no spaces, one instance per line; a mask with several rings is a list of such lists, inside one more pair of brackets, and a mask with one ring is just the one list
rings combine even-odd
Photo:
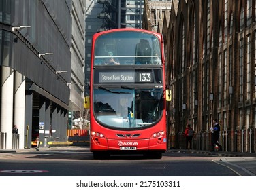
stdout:
[[95,160],[87,147],[2,151],[0,176],[255,176],[256,157],[172,150],[161,160],[116,155]]

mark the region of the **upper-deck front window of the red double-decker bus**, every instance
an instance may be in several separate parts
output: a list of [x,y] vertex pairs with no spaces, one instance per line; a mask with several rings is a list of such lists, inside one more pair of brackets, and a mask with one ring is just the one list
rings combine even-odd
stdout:
[[161,65],[157,36],[143,32],[116,32],[101,35],[95,41],[94,65]]

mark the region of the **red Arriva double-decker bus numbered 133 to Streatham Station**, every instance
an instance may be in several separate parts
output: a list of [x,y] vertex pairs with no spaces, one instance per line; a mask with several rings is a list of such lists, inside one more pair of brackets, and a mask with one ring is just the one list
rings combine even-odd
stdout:
[[163,37],[143,29],[93,35],[91,151],[95,159],[140,154],[161,159],[167,149]]

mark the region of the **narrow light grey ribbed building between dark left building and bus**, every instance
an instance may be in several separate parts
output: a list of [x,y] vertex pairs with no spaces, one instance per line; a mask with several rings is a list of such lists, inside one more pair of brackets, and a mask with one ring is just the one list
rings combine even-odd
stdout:
[[[74,111],[84,111],[85,0],[72,1],[71,81],[69,84],[69,125]],[[64,73],[63,73],[64,74]]]

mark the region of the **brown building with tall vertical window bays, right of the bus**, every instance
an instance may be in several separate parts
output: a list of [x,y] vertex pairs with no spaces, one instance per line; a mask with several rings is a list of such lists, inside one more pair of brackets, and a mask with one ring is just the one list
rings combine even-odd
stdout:
[[209,150],[217,118],[225,151],[256,151],[255,10],[253,0],[172,1],[163,22],[170,147],[185,148],[182,132],[191,123],[194,148]]

